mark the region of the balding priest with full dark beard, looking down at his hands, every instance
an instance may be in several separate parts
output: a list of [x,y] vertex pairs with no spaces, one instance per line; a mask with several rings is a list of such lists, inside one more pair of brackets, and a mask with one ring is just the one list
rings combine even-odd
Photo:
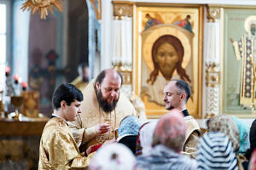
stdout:
[[123,77],[119,71],[102,71],[82,91],[82,113],[70,123],[77,144],[86,150],[92,144],[102,144],[115,137],[115,129],[125,116],[136,116],[129,99],[120,88]]

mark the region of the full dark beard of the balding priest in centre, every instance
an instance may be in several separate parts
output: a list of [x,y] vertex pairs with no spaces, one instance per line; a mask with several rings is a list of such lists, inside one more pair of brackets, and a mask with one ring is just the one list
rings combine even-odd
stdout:
[[107,99],[105,99],[102,95],[102,90],[96,90],[96,96],[97,96],[97,100],[99,102],[100,107],[102,108],[102,110],[104,112],[110,112],[113,111],[117,102],[119,101],[118,99],[113,100],[113,102],[111,104],[108,103]]

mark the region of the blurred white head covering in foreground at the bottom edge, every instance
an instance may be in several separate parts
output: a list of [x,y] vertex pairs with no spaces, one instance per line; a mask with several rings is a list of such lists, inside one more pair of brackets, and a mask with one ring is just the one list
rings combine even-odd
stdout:
[[90,170],[134,170],[136,158],[124,144],[102,146],[90,161]]

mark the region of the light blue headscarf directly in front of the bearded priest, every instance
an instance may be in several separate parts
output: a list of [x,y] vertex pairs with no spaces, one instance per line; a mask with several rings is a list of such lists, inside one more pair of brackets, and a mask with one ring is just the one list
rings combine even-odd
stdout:
[[126,116],[119,125],[119,138],[123,139],[125,136],[137,136],[142,122],[137,118],[137,116]]

